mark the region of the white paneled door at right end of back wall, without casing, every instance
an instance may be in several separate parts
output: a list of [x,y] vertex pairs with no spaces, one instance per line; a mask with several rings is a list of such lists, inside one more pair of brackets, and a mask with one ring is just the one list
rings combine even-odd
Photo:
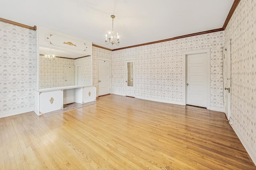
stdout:
[[207,106],[207,53],[186,56],[186,104]]

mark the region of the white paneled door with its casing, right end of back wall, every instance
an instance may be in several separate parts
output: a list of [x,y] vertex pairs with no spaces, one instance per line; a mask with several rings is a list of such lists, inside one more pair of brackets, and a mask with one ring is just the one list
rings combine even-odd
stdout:
[[[196,55],[198,55],[198,58]],[[190,64],[187,62],[189,56],[192,58]],[[191,68],[188,69],[187,66]],[[190,72],[188,76],[187,72]],[[184,52],[183,86],[184,105],[190,104],[210,109],[210,49]],[[202,99],[204,100],[202,101]]]

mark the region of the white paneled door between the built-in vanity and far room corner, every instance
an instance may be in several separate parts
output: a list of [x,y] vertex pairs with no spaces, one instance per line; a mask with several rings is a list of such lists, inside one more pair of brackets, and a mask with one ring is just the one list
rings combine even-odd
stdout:
[[98,60],[99,96],[110,94],[110,61]]

